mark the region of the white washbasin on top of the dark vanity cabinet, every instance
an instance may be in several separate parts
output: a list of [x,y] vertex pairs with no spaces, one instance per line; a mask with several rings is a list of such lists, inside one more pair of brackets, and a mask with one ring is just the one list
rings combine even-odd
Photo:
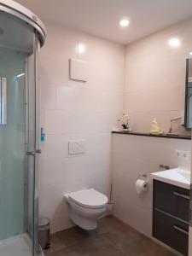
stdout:
[[161,172],[154,172],[151,174],[151,177],[184,189],[190,189],[190,171],[180,167]]

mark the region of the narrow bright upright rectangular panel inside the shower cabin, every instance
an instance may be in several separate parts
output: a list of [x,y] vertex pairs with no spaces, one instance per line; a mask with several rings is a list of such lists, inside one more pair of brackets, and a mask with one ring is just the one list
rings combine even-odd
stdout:
[[7,124],[7,79],[0,78],[0,125]]

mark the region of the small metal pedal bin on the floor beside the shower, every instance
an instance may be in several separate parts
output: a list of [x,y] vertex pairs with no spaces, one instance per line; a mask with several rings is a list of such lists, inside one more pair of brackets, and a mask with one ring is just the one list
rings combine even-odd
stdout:
[[43,250],[50,247],[50,221],[49,218],[41,217],[38,222],[39,243]]

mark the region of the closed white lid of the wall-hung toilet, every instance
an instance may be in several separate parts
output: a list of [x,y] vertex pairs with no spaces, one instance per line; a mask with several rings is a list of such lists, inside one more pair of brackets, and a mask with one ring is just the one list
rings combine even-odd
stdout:
[[108,203],[108,197],[95,189],[85,189],[68,194],[74,203],[85,208],[102,208]]

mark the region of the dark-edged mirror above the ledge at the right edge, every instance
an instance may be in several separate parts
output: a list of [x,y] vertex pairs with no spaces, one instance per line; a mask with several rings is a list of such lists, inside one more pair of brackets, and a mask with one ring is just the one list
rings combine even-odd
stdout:
[[184,125],[192,128],[192,58],[186,60]]

